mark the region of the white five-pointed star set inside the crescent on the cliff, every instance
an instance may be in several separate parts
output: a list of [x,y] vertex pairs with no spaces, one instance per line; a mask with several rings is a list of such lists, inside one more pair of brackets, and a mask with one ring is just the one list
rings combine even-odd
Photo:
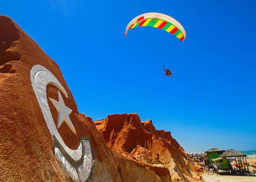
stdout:
[[65,103],[60,94],[60,91],[58,92],[59,92],[59,102],[52,98],[49,98],[50,101],[53,103],[54,107],[56,108],[56,110],[58,111],[58,128],[61,126],[63,121],[65,121],[68,127],[71,129],[71,131],[73,131],[76,134],[75,127],[69,118],[69,114],[72,112],[72,110],[67,106],[65,106]]

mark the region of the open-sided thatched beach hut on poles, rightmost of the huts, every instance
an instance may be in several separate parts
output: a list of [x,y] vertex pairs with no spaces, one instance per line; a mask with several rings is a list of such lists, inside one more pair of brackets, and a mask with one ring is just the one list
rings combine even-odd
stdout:
[[[243,154],[241,152],[238,152],[234,149],[228,149],[226,150],[223,154],[220,155],[220,157],[222,158],[231,158],[234,157],[235,161],[236,161],[236,170],[239,171],[246,171],[246,167],[247,167],[247,171],[249,171],[246,161],[246,154]],[[244,161],[244,157],[245,157],[245,161]]]

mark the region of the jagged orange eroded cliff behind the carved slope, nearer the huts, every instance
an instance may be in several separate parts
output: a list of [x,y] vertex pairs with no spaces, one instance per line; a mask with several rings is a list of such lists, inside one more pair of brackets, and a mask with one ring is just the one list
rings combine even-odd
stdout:
[[[193,181],[192,161],[170,132],[156,130],[152,120],[141,122],[137,114],[114,114],[95,121],[106,144],[127,158],[152,166],[167,181]],[[168,171],[166,173],[166,170]]]

